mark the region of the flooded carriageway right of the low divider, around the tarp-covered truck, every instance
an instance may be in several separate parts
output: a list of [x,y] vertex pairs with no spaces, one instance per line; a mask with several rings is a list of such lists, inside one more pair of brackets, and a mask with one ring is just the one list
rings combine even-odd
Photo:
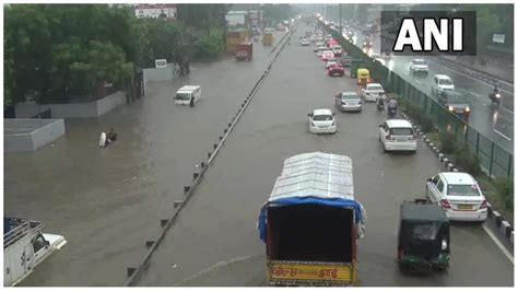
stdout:
[[[327,77],[311,47],[297,44],[304,26],[281,54],[139,284],[264,286],[266,248],[256,229],[259,210],[284,159],[322,151],[353,160],[355,196],[368,213],[366,236],[358,241],[361,286],[513,286],[514,265],[480,224],[451,226],[448,272],[399,272],[399,206],[423,197],[426,178],[442,167],[421,141],[416,154],[384,153],[377,130],[386,115],[378,114],[375,104],[365,104],[360,114],[333,108],[337,93],[357,88],[349,78]],[[306,114],[315,108],[337,112],[337,135],[309,133]]]

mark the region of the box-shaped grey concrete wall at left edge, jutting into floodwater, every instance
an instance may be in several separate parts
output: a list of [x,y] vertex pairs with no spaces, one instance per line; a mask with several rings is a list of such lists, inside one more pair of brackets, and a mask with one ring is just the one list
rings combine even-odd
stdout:
[[3,127],[4,152],[34,151],[64,136],[63,119],[3,119]]

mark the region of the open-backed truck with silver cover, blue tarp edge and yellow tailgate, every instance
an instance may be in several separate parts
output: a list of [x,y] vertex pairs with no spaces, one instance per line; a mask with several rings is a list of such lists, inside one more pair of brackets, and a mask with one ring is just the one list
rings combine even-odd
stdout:
[[353,286],[365,222],[349,156],[311,152],[286,159],[258,221],[269,284]]

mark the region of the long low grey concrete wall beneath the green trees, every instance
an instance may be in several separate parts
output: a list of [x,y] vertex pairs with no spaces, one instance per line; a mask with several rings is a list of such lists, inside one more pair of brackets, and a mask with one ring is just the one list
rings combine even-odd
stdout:
[[[85,103],[45,104],[40,110],[51,110],[52,118],[92,118],[126,103],[126,93],[117,91],[102,100]],[[37,104],[20,103],[14,107],[16,118],[30,118],[38,114]]]

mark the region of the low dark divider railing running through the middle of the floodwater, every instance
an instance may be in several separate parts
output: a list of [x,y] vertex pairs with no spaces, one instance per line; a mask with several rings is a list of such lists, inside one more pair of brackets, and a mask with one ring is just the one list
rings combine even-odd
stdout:
[[[259,80],[256,82],[254,85],[252,90],[248,94],[248,96],[245,97],[243,103],[237,109],[237,113],[234,117],[232,117],[231,123],[227,124],[226,128],[223,129],[223,135],[219,137],[219,142],[212,144],[212,152],[208,152],[207,154],[207,161],[201,162],[197,167],[199,168],[199,172],[196,172],[192,174],[192,183],[188,186],[184,186],[184,199],[183,200],[176,200],[173,205],[173,212],[172,216],[168,219],[162,219],[160,221],[161,225],[161,231],[158,236],[154,241],[145,241],[144,246],[148,248],[148,252],[145,253],[143,259],[140,261],[138,267],[128,267],[127,268],[127,280],[125,281],[125,287],[130,287],[134,286],[134,283],[140,279],[140,276],[142,272],[148,268],[150,264],[150,259],[153,255],[153,253],[156,251],[160,243],[163,241],[165,237],[165,234],[167,231],[170,229],[170,226],[175,223],[176,218],[178,217],[178,213],[181,211],[184,206],[189,201],[189,199],[192,197],[192,195],[196,193],[196,189],[198,185],[201,183],[201,179],[203,178],[204,173],[209,168],[210,165],[214,162],[215,156],[222,149],[223,144],[225,143],[226,139],[231,135],[232,130],[235,128],[237,123],[239,121],[240,117],[245,113],[245,109],[247,106],[250,104],[252,97],[256,95],[257,91],[259,90],[260,85],[264,82],[266,78],[270,73],[273,63],[278,60],[281,51],[290,42],[291,36],[295,32],[298,23],[295,23],[293,28],[289,31],[278,43],[278,46],[280,47],[279,51],[275,54],[274,58],[270,61],[269,66],[262,73],[262,75],[259,78]],[[274,47],[276,48],[276,47]],[[274,49],[272,49],[273,51]]]

